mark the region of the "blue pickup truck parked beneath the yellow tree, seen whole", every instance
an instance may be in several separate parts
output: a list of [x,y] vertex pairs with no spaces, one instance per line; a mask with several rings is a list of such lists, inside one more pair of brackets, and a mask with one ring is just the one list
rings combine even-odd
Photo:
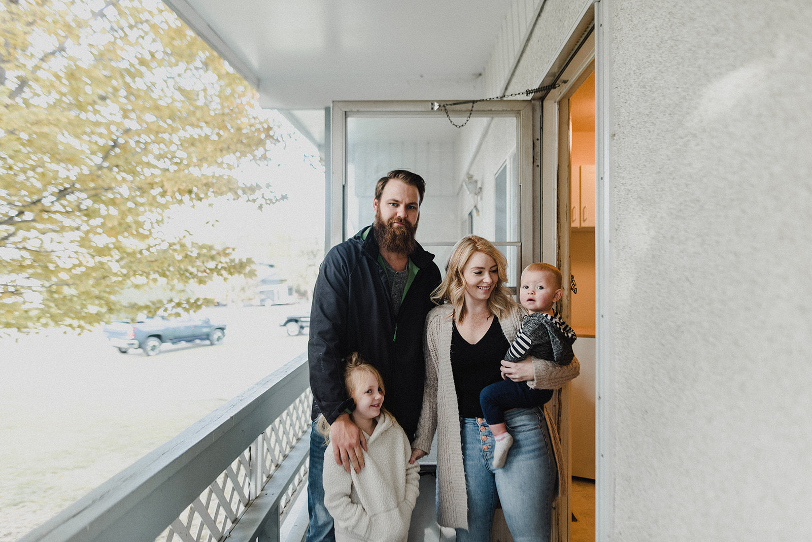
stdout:
[[140,348],[145,355],[156,355],[164,342],[209,341],[221,344],[226,336],[225,324],[212,324],[209,318],[186,316],[168,320],[163,316],[130,322],[113,322],[104,326],[110,345],[126,354],[131,348]]

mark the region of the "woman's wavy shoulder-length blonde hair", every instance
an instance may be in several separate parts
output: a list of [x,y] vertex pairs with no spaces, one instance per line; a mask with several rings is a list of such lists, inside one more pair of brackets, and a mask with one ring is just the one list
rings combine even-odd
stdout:
[[438,305],[451,303],[457,321],[461,322],[465,319],[468,310],[465,308],[465,277],[463,277],[463,272],[468,260],[476,252],[482,252],[482,254],[490,256],[496,262],[499,280],[488,299],[488,309],[501,320],[516,304],[511,297],[508,286],[505,286],[505,283],[508,282],[508,272],[506,270],[508,260],[494,246],[494,243],[477,235],[468,235],[456,243],[454,252],[451,252],[446,264],[446,276],[443,277],[440,286],[437,286],[431,292],[431,299]]

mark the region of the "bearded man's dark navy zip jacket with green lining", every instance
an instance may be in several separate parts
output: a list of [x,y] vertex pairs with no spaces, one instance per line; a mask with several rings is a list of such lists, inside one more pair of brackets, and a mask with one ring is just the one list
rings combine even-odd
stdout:
[[425,315],[434,307],[430,294],[440,282],[434,254],[417,245],[409,255],[418,270],[395,311],[387,273],[378,264],[371,228],[336,245],[325,256],[313,290],[308,358],[313,419],[323,412],[332,424],[355,407],[343,385],[343,358],[352,352],[383,376],[383,406],[411,440],[423,402]]

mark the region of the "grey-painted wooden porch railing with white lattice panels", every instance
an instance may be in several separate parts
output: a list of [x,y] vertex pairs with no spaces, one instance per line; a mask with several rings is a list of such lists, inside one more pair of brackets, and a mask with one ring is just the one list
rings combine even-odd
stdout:
[[300,355],[19,542],[279,540],[306,478],[311,402]]

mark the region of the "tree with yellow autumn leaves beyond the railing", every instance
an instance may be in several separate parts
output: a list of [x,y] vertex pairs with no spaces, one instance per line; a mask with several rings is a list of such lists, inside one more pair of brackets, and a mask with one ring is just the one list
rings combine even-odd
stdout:
[[121,294],[250,276],[160,226],[217,196],[274,203],[231,172],[275,143],[255,93],[160,0],[0,0],[0,329],[195,310],[210,300]]

